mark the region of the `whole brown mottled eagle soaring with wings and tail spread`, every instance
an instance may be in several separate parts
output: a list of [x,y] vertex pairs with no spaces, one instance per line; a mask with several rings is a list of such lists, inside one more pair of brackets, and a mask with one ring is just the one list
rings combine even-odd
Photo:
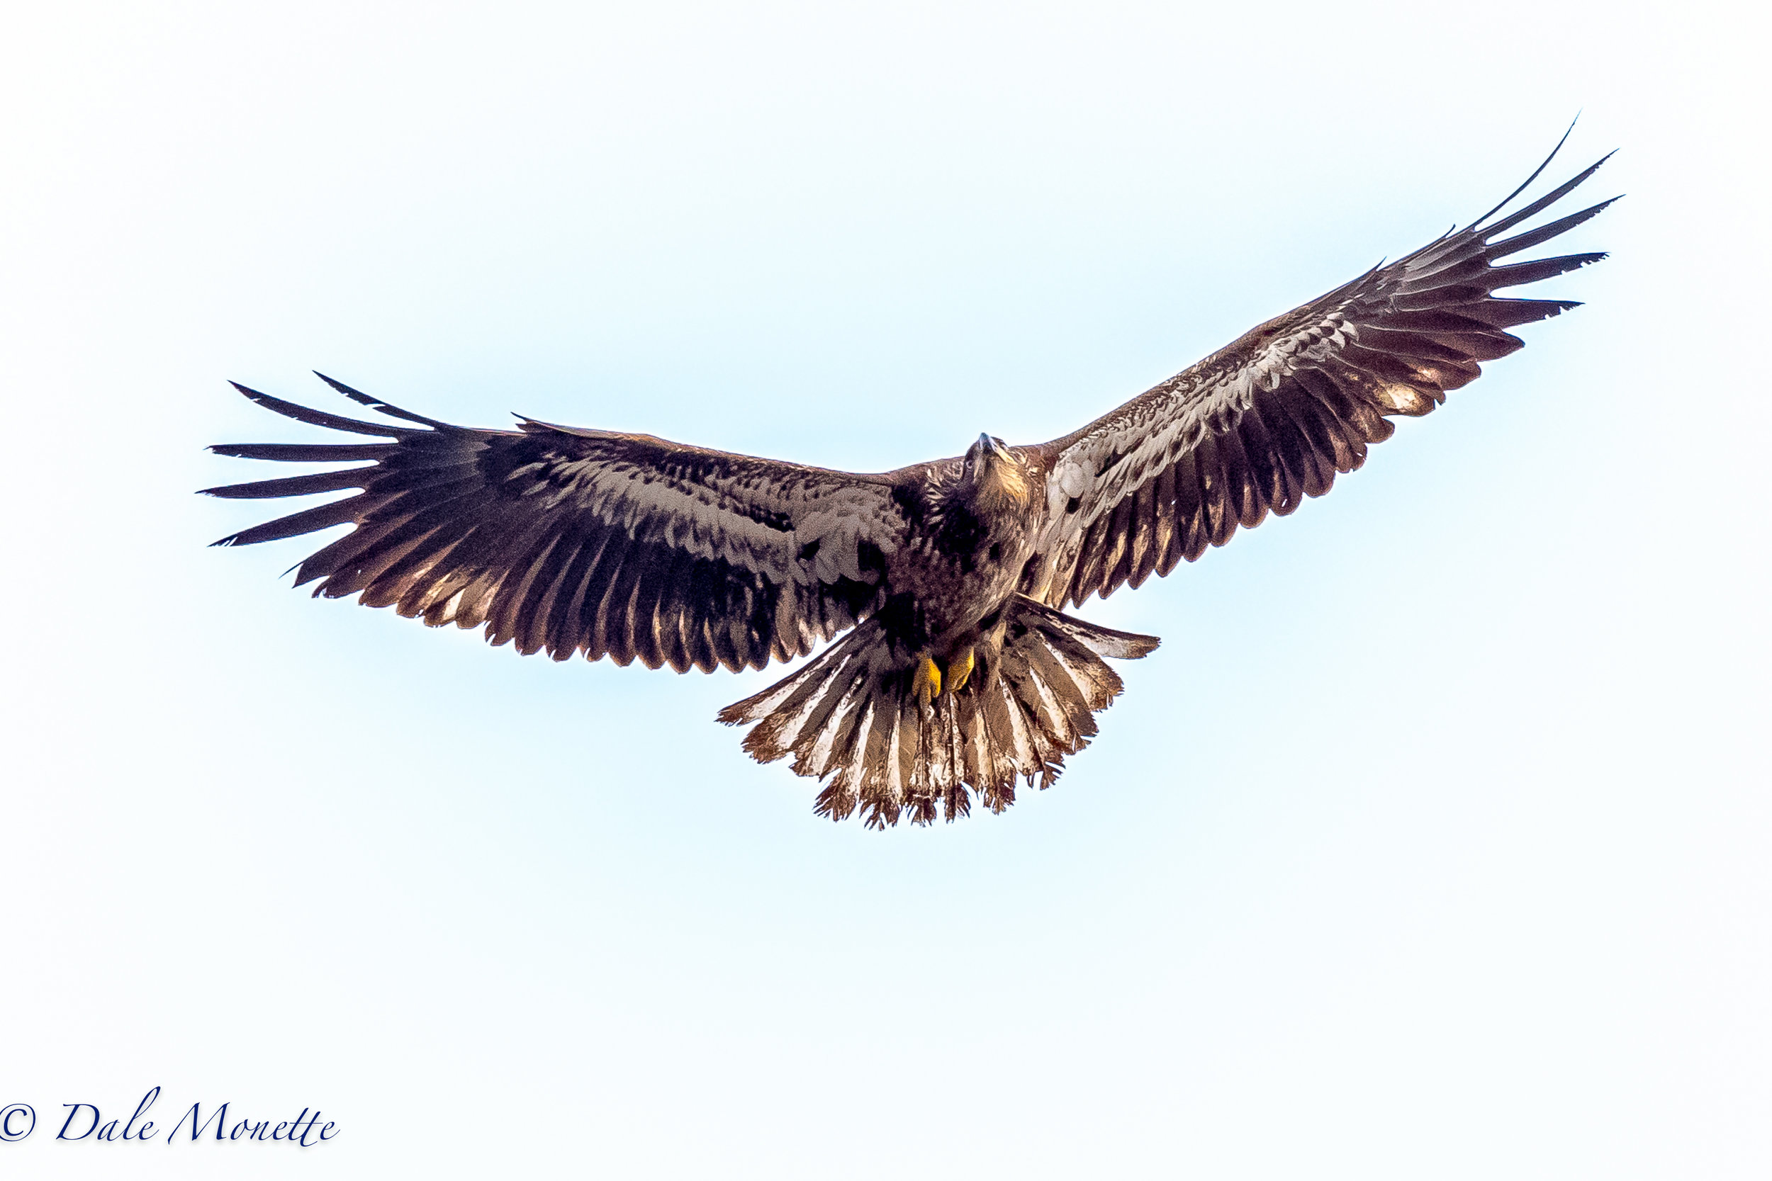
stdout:
[[516,430],[455,427],[321,375],[386,420],[361,421],[236,382],[269,411],[372,441],[213,446],[351,466],[211,496],[354,490],[214,544],[349,524],[294,567],[296,586],[484,627],[493,645],[555,660],[762,669],[842,634],[719,721],[751,726],[742,745],[762,763],[792,756],[831,820],[952,822],[973,797],[1001,813],[1017,783],[1051,786],[1097,733],[1093,715],[1123,689],[1108,660],[1157,646],[1069,607],[1322,496],[1391,418],[1430,413],[1520,349],[1510,328],[1579,306],[1496,296],[1605,257],[1504,262],[1613,204],[1508,235],[1609,158],[1510,211],[1556,154],[1467,227],[1061,439],[982,434],[964,455],[879,475],[525,416]]

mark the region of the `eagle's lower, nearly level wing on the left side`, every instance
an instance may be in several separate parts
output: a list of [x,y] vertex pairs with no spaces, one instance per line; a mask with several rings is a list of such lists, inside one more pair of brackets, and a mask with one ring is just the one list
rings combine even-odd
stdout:
[[[331,379],[326,379],[331,382]],[[222,455],[374,460],[207,489],[268,498],[360,489],[225,536],[248,545],[356,526],[301,561],[296,584],[361,595],[438,627],[486,625],[494,645],[556,660],[764,668],[865,618],[905,519],[886,476],[728,455],[650,436],[523,420],[473,430],[331,382],[409,425],[338,418],[239,386],[278,414],[381,436],[367,444],[222,444]]]

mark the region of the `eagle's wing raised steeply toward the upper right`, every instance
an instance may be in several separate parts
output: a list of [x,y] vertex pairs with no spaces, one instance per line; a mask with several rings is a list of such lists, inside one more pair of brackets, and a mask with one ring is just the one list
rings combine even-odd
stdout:
[[1290,513],[1306,496],[1327,492],[1336,473],[1359,467],[1366,444],[1391,436],[1389,416],[1426,414],[1448,390],[1474,381],[1480,361],[1519,349],[1522,342],[1504,329],[1579,306],[1492,294],[1605,257],[1496,266],[1611,204],[1494,241],[1605,159],[1488,221],[1549,163],[1464,230],[1262,324],[1083,430],[1040,446],[1051,515],[1022,590],[1054,607],[1081,606],[1123,583],[1138,586],[1152,570],[1168,574],[1182,558],[1193,561],[1269,510]]

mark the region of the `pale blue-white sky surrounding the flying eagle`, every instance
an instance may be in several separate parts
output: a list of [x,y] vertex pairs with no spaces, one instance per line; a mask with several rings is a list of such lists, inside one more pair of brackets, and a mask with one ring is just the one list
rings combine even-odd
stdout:
[[[0,42],[0,1144],[30,1177],[1763,1177],[1747,5],[58,4]],[[867,832],[714,712],[206,544],[424,414],[1063,434],[1554,179],[1588,306],[1297,515],[1047,793]],[[1574,205],[1572,205],[1574,207]],[[1561,243],[1559,243],[1561,244]],[[275,508],[275,506],[273,506]],[[57,1144],[159,1085],[338,1139]],[[78,1124],[76,1124],[78,1128]]]

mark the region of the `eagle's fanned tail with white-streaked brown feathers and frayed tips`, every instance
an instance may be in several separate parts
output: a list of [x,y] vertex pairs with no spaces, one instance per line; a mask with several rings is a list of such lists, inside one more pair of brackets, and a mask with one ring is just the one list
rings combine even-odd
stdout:
[[794,772],[829,779],[817,811],[843,820],[861,807],[867,825],[930,823],[971,811],[971,791],[994,813],[1015,802],[1015,779],[1045,790],[1067,754],[1095,735],[1123,683],[1102,657],[1127,660],[1157,646],[1084,623],[1017,595],[1001,655],[960,692],[918,703],[911,669],[879,620],[868,620],[819,659],[719,721],[757,722],[744,749],[758,763],[794,756]]

